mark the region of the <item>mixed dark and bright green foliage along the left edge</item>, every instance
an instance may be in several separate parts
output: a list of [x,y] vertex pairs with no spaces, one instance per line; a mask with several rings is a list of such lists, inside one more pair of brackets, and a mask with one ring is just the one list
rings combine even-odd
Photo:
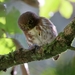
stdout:
[[20,13],[14,7],[9,13],[6,13],[6,8],[2,4],[0,9],[0,54],[7,54],[15,49],[15,45],[12,39],[6,38],[8,36],[5,33],[15,34],[21,32],[17,25]]

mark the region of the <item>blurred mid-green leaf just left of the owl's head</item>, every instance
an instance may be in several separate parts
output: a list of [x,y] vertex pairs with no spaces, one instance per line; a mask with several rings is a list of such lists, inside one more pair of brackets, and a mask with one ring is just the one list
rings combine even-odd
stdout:
[[17,21],[18,21],[18,17],[19,17],[20,13],[17,9],[15,9],[14,7],[12,8],[12,10],[6,15],[6,25],[5,25],[5,30],[8,33],[20,33],[21,30],[18,27]]

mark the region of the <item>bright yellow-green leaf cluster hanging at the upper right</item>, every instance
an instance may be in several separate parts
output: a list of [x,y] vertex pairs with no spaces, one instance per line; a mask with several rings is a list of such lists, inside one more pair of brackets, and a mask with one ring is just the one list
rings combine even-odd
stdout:
[[57,11],[65,18],[70,18],[73,13],[71,2],[75,0],[45,0],[44,6],[40,7],[40,15],[44,17],[52,16],[52,12]]

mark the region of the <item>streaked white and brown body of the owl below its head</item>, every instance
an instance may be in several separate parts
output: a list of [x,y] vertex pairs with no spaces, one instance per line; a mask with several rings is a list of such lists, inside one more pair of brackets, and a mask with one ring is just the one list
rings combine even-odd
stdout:
[[57,36],[55,26],[47,19],[42,19],[37,26],[28,31],[28,44],[41,46],[50,43]]

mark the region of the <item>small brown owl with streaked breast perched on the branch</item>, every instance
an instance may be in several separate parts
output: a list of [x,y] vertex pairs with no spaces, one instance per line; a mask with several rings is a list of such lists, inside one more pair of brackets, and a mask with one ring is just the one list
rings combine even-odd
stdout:
[[30,47],[50,43],[58,35],[55,25],[50,20],[39,17],[31,11],[27,11],[19,17],[18,25],[24,32]]

